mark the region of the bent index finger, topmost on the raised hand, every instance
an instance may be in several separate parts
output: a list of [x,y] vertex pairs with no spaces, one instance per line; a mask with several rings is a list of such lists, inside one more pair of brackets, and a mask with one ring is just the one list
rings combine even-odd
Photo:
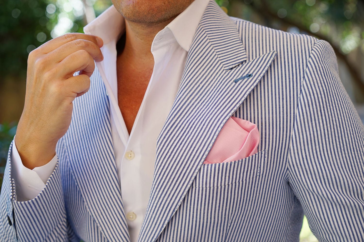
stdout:
[[63,34],[61,36],[58,36],[50,41],[47,41],[43,45],[39,46],[37,49],[39,49],[40,52],[43,54],[47,54],[55,49],[57,49],[59,46],[64,45],[68,42],[82,39],[82,40],[88,40],[94,42],[96,45],[101,47],[103,45],[102,38],[91,35],[91,34],[83,34],[83,33],[67,33]]

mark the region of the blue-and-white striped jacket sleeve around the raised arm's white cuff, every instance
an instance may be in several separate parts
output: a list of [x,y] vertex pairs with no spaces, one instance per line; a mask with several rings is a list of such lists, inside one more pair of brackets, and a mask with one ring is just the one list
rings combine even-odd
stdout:
[[[59,160],[64,159],[60,139],[56,146]],[[16,184],[11,176],[10,144],[0,194],[0,241],[66,241],[67,219],[62,193],[59,160],[43,190],[28,201],[17,201]]]

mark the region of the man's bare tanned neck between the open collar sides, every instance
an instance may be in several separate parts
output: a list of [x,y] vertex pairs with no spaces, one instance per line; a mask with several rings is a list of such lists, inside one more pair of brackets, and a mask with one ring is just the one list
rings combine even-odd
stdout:
[[122,53],[120,53],[122,58],[135,61],[139,65],[154,64],[154,57],[150,51],[153,39],[173,19],[174,17],[155,25],[143,25],[125,19],[125,45]]

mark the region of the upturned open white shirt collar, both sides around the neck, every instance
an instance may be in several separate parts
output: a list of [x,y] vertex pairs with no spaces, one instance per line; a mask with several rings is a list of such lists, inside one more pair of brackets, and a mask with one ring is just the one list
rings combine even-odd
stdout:
[[[183,12],[175,17],[164,29],[159,31],[153,40],[151,51],[162,46],[159,40],[167,38],[177,41],[188,52],[194,34],[209,0],[194,0]],[[170,31],[169,31],[170,30]],[[124,17],[111,5],[96,19],[83,28],[84,33],[102,38],[104,44],[116,42],[125,31]],[[172,34],[170,34],[170,32]],[[168,41],[167,41],[168,42]],[[163,40],[163,43],[167,43]],[[163,44],[164,45],[164,44]]]

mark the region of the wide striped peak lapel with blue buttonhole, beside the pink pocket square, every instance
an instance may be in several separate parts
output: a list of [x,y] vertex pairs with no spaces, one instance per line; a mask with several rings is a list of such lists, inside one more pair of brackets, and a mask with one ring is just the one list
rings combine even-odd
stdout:
[[149,204],[138,241],[155,241],[178,209],[226,120],[276,56],[246,62],[236,24],[210,0],[177,96],[157,140]]

